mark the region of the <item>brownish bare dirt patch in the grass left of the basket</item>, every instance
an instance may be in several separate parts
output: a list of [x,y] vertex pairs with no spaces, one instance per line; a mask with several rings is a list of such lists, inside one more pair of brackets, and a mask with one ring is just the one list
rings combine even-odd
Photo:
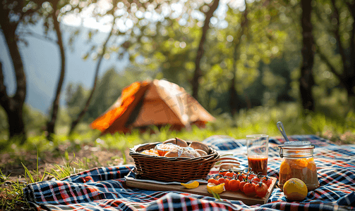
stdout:
[[[6,181],[21,181],[26,182],[24,178],[25,167],[30,170],[32,175],[35,175],[37,170],[40,172],[39,176],[42,178],[44,171],[55,174],[53,170],[58,171],[59,166],[64,166],[70,162],[71,167],[76,168],[76,172],[81,172],[83,169],[76,165],[78,160],[85,164],[85,168],[91,169],[93,167],[109,167],[115,165],[133,164],[133,159],[128,154],[126,149],[126,163],[121,151],[116,149],[99,148],[95,146],[80,146],[78,150],[68,151],[69,161],[65,158],[65,150],[67,146],[59,146],[56,151],[52,153],[40,153],[37,159],[37,151],[18,151],[16,153],[1,153],[0,154],[0,170],[6,177]],[[75,154],[75,157],[74,157]],[[23,165],[22,165],[23,163]],[[1,176],[0,176],[1,177]],[[44,180],[52,179],[53,177],[46,174]],[[4,179],[4,178],[0,178]]]

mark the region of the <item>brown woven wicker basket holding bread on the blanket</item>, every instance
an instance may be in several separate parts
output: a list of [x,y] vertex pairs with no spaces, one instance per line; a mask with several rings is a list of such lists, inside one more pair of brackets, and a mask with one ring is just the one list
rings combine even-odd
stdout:
[[167,158],[138,153],[154,148],[158,143],[161,142],[140,144],[129,150],[138,178],[179,182],[205,179],[219,158],[219,153],[212,148],[208,155],[197,158]]

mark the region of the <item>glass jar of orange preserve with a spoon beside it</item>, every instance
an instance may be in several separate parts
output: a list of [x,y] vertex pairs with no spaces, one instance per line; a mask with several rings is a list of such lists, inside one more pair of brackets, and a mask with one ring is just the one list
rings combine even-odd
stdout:
[[318,188],[317,167],[313,160],[314,145],[310,141],[287,141],[279,146],[282,163],[279,167],[279,188],[291,178],[301,179],[308,191]]

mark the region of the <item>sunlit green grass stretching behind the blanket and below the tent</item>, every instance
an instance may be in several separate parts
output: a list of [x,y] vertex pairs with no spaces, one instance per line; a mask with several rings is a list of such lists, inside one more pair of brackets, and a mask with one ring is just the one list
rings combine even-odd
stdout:
[[[53,141],[47,141],[44,134],[36,134],[28,138],[25,145],[17,143],[7,144],[3,152],[16,154],[7,163],[0,163],[0,210],[18,210],[18,207],[28,207],[23,199],[23,187],[26,184],[36,181],[43,181],[49,178],[63,179],[73,173],[88,170],[92,167],[107,165],[117,165],[114,160],[119,160],[121,164],[128,162],[127,150],[140,143],[165,141],[173,137],[190,141],[202,141],[209,136],[227,135],[234,139],[243,139],[247,134],[268,134],[269,136],[281,136],[276,123],[282,121],[287,135],[294,134],[317,134],[338,144],[355,143],[355,114],[348,113],[346,117],[327,117],[321,113],[312,113],[301,115],[299,107],[296,104],[283,104],[275,108],[259,107],[251,110],[241,110],[239,115],[231,117],[222,114],[217,120],[208,123],[205,129],[192,127],[190,131],[183,129],[181,132],[170,131],[169,127],[152,127],[154,133],[140,133],[134,130],[131,134],[107,134],[100,136],[100,132],[85,130],[83,124],[80,134],[66,136],[58,134],[54,136]],[[60,130],[59,130],[60,131]],[[91,148],[91,153],[86,153],[80,158],[76,158],[76,151],[83,151],[84,148]],[[104,162],[100,160],[97,153],[115,150],[116,153]],[[32,161],[24,155],[24,152],[35,151],[37,158]],[[72,153],[73,152],[73,153]],[[34,157],[36,155],[33,155]],[[16,157],[16,158],[15,158]],[[40,169],[39,160],[47,157],[63,157],[63,164],[55,164],[53,167]],[[10,161],[12,160],[12,161]],[[37,160],[35,167],[31,169],[28,165],[33,165]],[[21,163],[24,169],[24,175],[19,177],[23,180],[9,180],[10,175],[4,175],[1,167],[6,165],[15,165]]]

